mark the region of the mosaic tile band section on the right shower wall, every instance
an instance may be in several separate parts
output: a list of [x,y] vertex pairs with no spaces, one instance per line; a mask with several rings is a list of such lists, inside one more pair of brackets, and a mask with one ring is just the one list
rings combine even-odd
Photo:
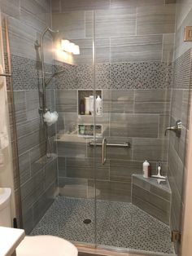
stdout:
[[192,86],[191,81],[192,49],[185,51],[173,64],[173,82],[174,88],[189,89]]

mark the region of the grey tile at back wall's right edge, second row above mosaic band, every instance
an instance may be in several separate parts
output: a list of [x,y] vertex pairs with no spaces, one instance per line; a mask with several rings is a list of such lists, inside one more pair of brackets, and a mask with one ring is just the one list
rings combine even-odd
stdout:
[[[157,18],[158,17],[158,18]],[[175,5],[137,8],[137,34],[174,33]]]

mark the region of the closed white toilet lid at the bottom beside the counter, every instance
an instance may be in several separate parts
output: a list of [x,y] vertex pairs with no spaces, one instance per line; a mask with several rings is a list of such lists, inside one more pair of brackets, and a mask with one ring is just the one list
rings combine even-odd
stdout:
[[77,256],[75,245],[57,236],[25,236],[17,256]]

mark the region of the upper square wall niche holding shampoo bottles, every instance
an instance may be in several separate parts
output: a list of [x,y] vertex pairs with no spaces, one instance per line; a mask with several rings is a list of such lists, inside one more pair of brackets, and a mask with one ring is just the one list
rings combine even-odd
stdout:
[[[94,98],[93,98],[92,104],[90,100],[87,100],[90,96],[94,97],[94,90],[77,90],[77,91],[78,91],[78,97],[77,97],[78,114],[83,116],[94,115]],[[95,97],[97,98],[98,95],[101,99],[103,99],[102,90],[95,90]],[[100,116],[102,116],[103,114],[103,100],[101,101],[101,103],[102,103],[102,112]],[[84,105],[84,108],[83,108],[83,105]]]

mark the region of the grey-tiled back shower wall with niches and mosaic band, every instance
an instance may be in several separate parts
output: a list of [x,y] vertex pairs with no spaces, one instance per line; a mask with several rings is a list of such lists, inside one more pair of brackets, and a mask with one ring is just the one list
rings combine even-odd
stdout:
[[[108,148],[105,166],[101,148],[96,149],[97,195],[131,201],[131,175],[142,174],[142,161],[151,161],[152,173],[156,161],[162,161],[162,173],[167,173],[164,129],[169,124],[171,99],[174,1],[60,0],[52,1],[52,12],[60,39],[75,42],[81,51],[73,56],[73,65],[55,58],[55,68],[66,70],[55,79],[60,193],[94,196],[94,150],[90,139],[76,134],[77,124],[94,121],[78,116],[77,98],[79,89],[94,88],[95,20],[96,89],[103,89],[103,117],[96,122],[103,125],[109,142],[132,145],[130,149]],[[138,206],[145,204],[139,192],[134,199]]]

